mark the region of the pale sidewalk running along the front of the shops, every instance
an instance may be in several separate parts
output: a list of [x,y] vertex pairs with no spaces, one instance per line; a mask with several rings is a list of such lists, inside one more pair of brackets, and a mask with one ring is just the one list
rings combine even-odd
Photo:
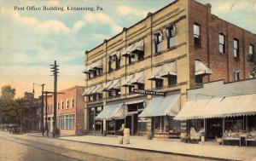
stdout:
[[[28,134],[42,136],[42,134]],[[163,152],[170,154],[195,156],[199,158],[231,159],[231,160],[255,160],[256,147],[221,146],[205,142],[203,144],[189,144],[178,140],[148,140],[145,137],[131,136],[131,144],[119,145],[117,136],[61,136],[62,141],[77,141],[102,146],[123,147],[138,151]]]

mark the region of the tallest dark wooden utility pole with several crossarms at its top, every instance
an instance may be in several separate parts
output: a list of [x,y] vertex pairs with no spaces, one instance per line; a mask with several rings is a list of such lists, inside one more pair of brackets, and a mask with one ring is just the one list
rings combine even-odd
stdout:
[[58,76],[58,69],[59,66],[57,66],[57,63],[56,63],[56,60],[55,60],[55,63],[54,65],[50,65],[50,69],[51,71],[50,72],[53,72],[53,75],[54,76],[54,122],[53,122],[53,129],[54,129],[54,132],[53,132],[53,137],[55,137],[55,130],[56,130],[56,107],[57,107],[57,76]]

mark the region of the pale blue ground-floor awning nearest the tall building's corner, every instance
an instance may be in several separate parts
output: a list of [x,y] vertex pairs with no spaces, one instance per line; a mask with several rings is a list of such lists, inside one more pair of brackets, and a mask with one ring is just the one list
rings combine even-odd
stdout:
[[179,94],[154,97],[139,115],[139,118],[172,116],[180,110]]

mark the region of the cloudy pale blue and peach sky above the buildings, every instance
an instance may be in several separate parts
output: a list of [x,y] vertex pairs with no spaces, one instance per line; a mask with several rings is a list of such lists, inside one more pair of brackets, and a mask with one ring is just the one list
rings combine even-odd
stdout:
[[[49,65],[60,66],[58,89],[84,85],[84,51],[115,36],[173,0],[0,0],[0,87],[16,97],[32,92],[32,83],[53,90]],[[256,33],[256,0],[197,0],[211,3],[212,14]],[[15,9],[15,6],[17,7]],[[26,10],[64,7],[65,11]],[[94,7],[94,11],[68,11]],[[99,10],[96,10],[97,6]],[[24,7],[24,10],[22,10]],[[19,8],[19,9],[18,9]],[[1,90],[1,89],[0,89]],[[35,95],[41,87],[35,86]]]

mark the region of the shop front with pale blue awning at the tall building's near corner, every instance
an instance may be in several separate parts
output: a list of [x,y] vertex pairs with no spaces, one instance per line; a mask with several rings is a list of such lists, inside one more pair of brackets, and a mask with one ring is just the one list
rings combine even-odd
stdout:
[[179,97],[179,94],[155,96],[139,115],[139,118],[151,119],[149,127],[151,127],[154,137],[179,137],[179,123],[173,120],[180,110]]

